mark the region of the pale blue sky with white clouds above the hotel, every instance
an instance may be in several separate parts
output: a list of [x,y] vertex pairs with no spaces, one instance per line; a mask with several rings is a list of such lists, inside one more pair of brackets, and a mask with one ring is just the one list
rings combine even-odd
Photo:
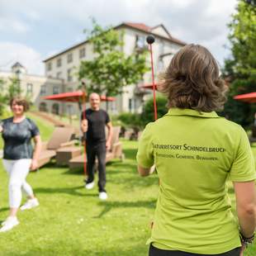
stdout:
[[0,0],[0,70],[19,61],[44,74],[43,59],[86,39],[94,17],[101,26],[163,24],[186,43],[206,46],[220,65],[230,55],[227,23],[237,0]]

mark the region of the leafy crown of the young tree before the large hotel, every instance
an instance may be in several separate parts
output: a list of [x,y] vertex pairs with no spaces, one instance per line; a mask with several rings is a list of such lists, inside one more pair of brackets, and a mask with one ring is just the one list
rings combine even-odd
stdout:
[[148,68],[146,51],[134,52],[127,56],[121,49],[124,45],[123,34],[111,26],[102,28],[92,19],[89,33],[95,58],[83,60],[78,70],[78,78],[86,79],[87,92],[104,93],[116,96],[127,85],[138,83]]

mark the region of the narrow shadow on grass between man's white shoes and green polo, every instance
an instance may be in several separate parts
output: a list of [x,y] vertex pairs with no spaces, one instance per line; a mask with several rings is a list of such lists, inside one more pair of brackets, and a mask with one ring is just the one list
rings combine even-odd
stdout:
[[154,208],[156,200],[149,200],[149,201],[101,201],[98,203],[100,206],[104,206],[102,212],[98,216],[94,216],[93,218],[101,218],[107,212],[111,211],[113,208],[139,208],[139,207],[146,207],[146,208]]

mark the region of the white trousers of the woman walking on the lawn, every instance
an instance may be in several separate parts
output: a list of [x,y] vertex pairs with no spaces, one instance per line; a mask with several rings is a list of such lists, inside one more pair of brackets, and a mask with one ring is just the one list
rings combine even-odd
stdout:
[[31,159],[2,159],[2,164],[9,175],[9,206],[10,208],[18,208],[21,205],[21,189],[27,196],[33,196],[31,185],[26,183],[26,176],[30,171]]

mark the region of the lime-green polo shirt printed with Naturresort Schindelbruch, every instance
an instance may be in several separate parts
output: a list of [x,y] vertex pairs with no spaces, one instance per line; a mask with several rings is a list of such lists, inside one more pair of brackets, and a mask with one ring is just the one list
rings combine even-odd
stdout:
[[156,165],[159,198],[148,244],[195,254],[240,246],[226,182],[256,178],[244,129],[216,112],[172,108],[141,135],[137,161]]

